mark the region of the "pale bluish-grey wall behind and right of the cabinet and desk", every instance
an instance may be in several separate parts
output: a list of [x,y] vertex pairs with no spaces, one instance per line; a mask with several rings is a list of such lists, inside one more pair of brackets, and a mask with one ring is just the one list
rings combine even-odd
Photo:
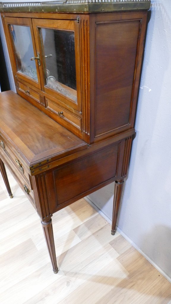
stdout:
[[[171,277],[171,1],[152,0],[118,227]],[[88,198],[111,219],[113,188]]]

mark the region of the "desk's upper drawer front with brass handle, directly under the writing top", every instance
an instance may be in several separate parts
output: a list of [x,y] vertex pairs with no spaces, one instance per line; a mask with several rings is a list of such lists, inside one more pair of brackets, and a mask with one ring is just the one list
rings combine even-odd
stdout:
[[23,178],[26,180],[26,182],[30,183],[29,173],[26,169],[26,164],[24,164],[24,161],[15,153],[15,151],[12,151],[8,145],[2,140],[0,137],[0,151],[1,154],[6,158],[7,160],[10,160],[13,164],[13,167],[15,168],[16,174],[21,174]]

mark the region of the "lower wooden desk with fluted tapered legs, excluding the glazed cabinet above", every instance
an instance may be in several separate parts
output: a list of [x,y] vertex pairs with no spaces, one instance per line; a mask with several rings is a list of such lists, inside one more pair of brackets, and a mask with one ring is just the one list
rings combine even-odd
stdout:
[[0,94],[0,170],[10,197],[4,163],[40,216],[54,273],[53,213],[113,181],[115,233],[134,133],[88,145],[14,92]]

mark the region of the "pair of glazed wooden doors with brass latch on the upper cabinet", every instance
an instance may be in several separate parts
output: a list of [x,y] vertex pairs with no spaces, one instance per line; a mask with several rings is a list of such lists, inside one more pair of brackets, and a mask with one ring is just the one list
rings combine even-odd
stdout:
[[7,17],[5,24],[16,77],[80,112],[78,21]]

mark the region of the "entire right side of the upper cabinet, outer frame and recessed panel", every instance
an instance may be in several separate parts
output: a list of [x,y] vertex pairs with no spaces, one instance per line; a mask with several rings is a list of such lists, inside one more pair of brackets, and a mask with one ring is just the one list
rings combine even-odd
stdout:
[[90,15],[91,143],[134,127],[146,15]]

